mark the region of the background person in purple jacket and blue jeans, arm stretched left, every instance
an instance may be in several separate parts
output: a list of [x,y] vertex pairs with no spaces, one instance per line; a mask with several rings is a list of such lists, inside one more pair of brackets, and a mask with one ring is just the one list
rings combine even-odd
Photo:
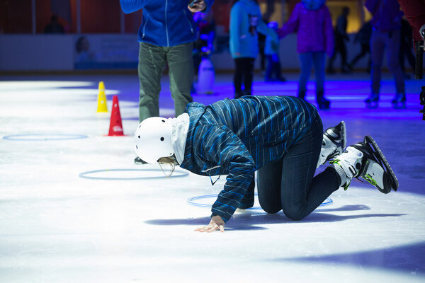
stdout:
[[317,105],[320,109],[327,109],[330,105],[330,101],[323,96],[325,53],[330,57],[334,49],[331,14],[324,2],[325,0],[302,0],[295,5],[288,22],[278,30],[280,37],[297,32],[297,52],[301,62],[298,97],[305,99],[313,65]]

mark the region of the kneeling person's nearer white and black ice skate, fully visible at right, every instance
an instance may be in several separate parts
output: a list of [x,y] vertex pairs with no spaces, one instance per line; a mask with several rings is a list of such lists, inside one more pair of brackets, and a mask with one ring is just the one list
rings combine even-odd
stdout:
[[[376,141],[370,136],[366,136],[362,142],[348,146],[346,151],[331,163],[340,166],[345,173],[346,179],[341,180],[344,190],[348,188],[352,178],[359,177],[385,194],[398,188],[394,171]],[[339,169],[335,169],[339,172]]]

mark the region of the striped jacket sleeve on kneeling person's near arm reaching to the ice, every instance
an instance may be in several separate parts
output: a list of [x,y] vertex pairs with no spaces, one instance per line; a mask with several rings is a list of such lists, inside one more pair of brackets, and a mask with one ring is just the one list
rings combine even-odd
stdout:
[[[201,153],[205,163],[227,169],[223,190],[212,204],[212,215],[220,215],[227,222],[239,207],[254,179],[255,163],[248,149],[229,128],[209,126],[203,137]],[[213,169],[212,169],[213,171]]]

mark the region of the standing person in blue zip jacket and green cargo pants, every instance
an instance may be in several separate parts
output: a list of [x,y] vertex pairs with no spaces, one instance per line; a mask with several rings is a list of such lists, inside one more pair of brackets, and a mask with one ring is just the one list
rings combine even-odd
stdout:
[[[124,13],[142,9],[139,28],[139,121],[159,116],[162,71],[169,67],[171,97],[176,117],[192,101],[193,42],[196,25],[192,12],[208,11],[214,0],[120,0]],[[135,163],[145,163],[139,157]]]

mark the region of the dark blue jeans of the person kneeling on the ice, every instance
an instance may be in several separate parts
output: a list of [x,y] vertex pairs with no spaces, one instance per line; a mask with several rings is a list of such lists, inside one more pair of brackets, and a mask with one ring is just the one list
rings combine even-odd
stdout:
[[283,210],[288,218],[300,220],[338,190],[341,179],[333,166],[313,178],[323,138],[320,118],[313,123],[282,159],[259,169],[259,202],[265,212]]

